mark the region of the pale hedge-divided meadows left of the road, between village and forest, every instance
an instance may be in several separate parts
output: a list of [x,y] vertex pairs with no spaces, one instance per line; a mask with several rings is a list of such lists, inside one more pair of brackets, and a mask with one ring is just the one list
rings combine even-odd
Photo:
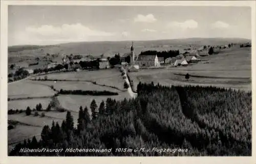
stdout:
[[[38,78],[38,77],[37,77]],[[44,76],[41,76],[44,78]],[[34,77],[32,77],[34,79]],[[71,111],[74,118],[75,126],[78,119],[79,107],[82,106],[89,108],[91,114],[90,104],[93,99],[96,100],[99,106],[102,100],[106,100],[108,97],[121,100],[123,98],[131,98],[129,93],[123,89],[123,79],[121,73],[117,69],[110,70],[98,70],[98,71],[80,71],[80,72],[67,72],[67,73],[54,73],[48,74],[48,79],[66,79],[66,80],[90,80],[96,81],[97,84],[87,81],[35,81],[35,80],[22,80],[8,85],[8,97],[9,98],[27,98],[34,97],[33,99],[23,100],[11,100],[8,101],[8,109],[23,109],[26,110],[27,106],[35,108],[36,104],[41,103],[42,108],[46,108],[51,98],[35,98],[40,96],[53,96],[55,92],[51,90],[49,86],[54,86],[56,90],[97,90],[97,91],[112,91],[117,92],[117,96],[83,96],[83,95],[59,95],[57,99],[62,107]],[[114,89],[111,87],[104,87],[100,85],[108,85],[118,87]],[[58,121],[61,124],[62,120],[66,118],[66,112],[60,113],[57,111],[45,112],[45,117],[41,117],[41,112],[38,112],[39,116],[26,116],[25,113],[8,115],[8,120],[18,121],[29,125],[18,125],[8,133],[8,144],[17,142],[20,138],[31,138],[32,135],[36,135],[37,139],[40,138],[41,128],[35,126],[51,125],[52,121]],[[17,129],[16,129],[17,128]],[[24,129],[24,130],[23,130]],[[36,130],[34,130],[36,129]],[[39,130],[40,129],[40,130]],[[15,131],[17,133],[15,133]],[[30,131],[30,132],[28,132]],[[39,132],[39,133],[38,133]],[[20,136],[20,138],[19,138]]]

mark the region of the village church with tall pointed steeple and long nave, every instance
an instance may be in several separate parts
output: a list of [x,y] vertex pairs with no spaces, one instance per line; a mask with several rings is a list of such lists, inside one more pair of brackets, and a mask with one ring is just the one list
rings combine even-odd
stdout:
[[160,61],[157,55],[139,55],[135,56],[134,45],[132,43],[131,52],[124,53],[122,62],[130,63],[131,66],[139,69],[141,67],[160,67]]

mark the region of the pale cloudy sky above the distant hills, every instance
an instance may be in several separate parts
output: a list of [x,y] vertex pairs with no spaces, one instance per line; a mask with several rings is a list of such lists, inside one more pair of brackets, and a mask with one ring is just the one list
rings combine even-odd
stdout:
[[8,46],[193,37],[251,39],[250,7],[8,7]]

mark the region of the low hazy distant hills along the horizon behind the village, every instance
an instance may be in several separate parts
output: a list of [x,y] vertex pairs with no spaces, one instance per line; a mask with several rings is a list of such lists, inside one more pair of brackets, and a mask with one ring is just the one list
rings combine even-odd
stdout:
[[[245,43],[250,42],[249,39],[242,38],[185,38],[170,40],[148,40],[134,41],[135,53],[145,50],[169,50],[179,49],[180,52],[184,48],[198,48],[203,45],[225,45],[228,43]],[[102,42],[72,42],[57,45],[19,45],[8,47],[8,57],[10,58],[35,58],[45,56],[45,54],[81,54],[87,56],[99,56],[104,54],[105,57],[114,56],[115,53],[129,52],[132,41],[102,41]]]

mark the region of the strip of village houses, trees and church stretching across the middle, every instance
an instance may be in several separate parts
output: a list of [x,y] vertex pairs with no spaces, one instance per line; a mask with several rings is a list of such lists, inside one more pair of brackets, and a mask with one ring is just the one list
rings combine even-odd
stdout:
[[[251,46],[250,43],[245,45]],[[80,55],[80,54],[45,54],[41,59],[38,57],[33,60],[27,60],[22,62],[17,62],[14,64],[9,64],[8,69],[8,81],[12,82],[17,79],[22,79],[22,77],[15,78],[15,72],[23,69],[28,72],[28,75],[51,72],[59,66],[58,71],[80,71],[82,69],[110,69],[113,67],[124,67],[127,71],[138,71],[139,69],[161,69],[170,67],[185,67],[188,65],[194,65],[205,59],[212,54],[217,54],[221,48],[228,49],[236,46],[236,44],[219,45],[219,46],[201,46],[198,49],[194,48],[184,48],[184,52],[171,54],[172,57],[168,57],[167,50],[166,56],[159,56],[160,51],[153,51],[151,53],[135,54],[134,43],[132,42],[131,51],[124,54],[116,54],[115,57],[104,57],[103,54],[100,56],[92,55]],[[173,50],[170,50],[173,51]],[[210,52],[212,51],[212,52]],[[162,51],[164,52],[164,51]],[[160,52],[160,53],[162,53]],[[113,60],[112,60],[113,59]],[[38,64],[41,63],[41,64]],[[62,66],[62,67],[61,67]],[[39,70],[39,71],[38,71]]]

